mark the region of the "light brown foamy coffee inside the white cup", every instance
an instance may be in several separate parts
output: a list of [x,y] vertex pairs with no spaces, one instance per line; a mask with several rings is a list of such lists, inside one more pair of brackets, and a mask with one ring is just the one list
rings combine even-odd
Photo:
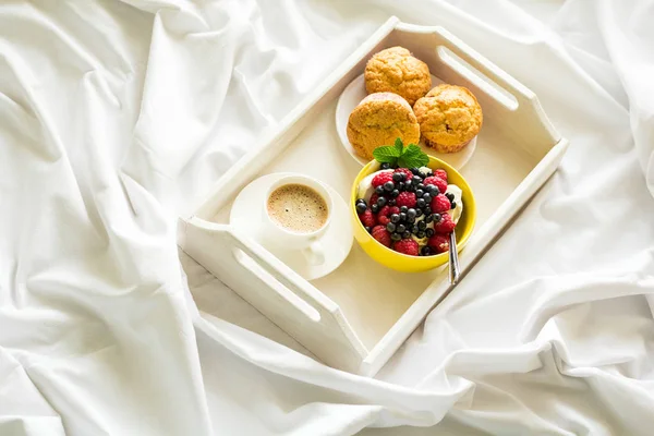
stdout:
[[287,230],[312,233],[327,222],[327,202],[320,194],[303,184],[284,184],[268,197],[268,216]]

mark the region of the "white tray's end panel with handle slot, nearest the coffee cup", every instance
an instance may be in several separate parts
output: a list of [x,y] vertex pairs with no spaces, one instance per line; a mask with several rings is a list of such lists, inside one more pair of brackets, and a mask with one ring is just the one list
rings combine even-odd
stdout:
[[355,372],[367,349],[339,306],[262,245],[229,225],[180,219],[182,250],[317,359]]

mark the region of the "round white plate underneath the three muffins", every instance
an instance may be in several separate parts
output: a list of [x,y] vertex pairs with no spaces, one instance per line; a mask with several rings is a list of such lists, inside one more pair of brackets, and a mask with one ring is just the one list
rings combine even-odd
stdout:
[[[432,75],[432,86],[440,85],[441,83],[445,82],[435,75]],[[342,94],[338,98],[338,104],[336,105],[336,130],[338,131],[338,136],[340,137],[343,147],[346,147],[346,150],[348,150],[350,156],[361,164],[362,167],[367,164],[367,160],[356,155],[354,148],[352,148],[352,145],[348,140],[348,120],[350,119],[350,113],[352,113],[356,105],[359,105],[366,96],[367,93],[365,92],[365,80],[363,74],[361,74],[359,77],[354,78],[346,87],[346,89],[343,89]],[[470,144],[468,144],[461,152],[458,153],[438,153],[434,148],[427,147],[422,140],[419,145],[427,155],[445,160],[456,169],[461,169],[465,164],[468,164],[474,153],[474,149],[476,148],[476,136],[472,138]]]

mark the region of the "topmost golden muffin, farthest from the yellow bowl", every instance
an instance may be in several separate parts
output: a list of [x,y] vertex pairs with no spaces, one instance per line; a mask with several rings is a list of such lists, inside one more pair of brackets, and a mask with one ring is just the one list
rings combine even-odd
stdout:
[[429,68],[403,47],[382,50],[365,65],[365,89],[373,93],[395,93],[409,105],[423,97],[432,87]]

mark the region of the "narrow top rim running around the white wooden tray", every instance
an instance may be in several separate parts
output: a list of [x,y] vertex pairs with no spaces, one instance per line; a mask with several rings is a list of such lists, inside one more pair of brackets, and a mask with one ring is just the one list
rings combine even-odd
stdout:
[[[291,110],[280,122],[277,124],[268,134],[262,135],[262,138],[257,142],[257,145],[253,147],[249,153],[246,153],[241,159],[239,159],[230,170],[222,174],[215,183],[214,186],[209,190],[209,193],[204,197],[204,199],[198,203],[197,207],[194,208],[194,213],[180,217],[180,233],[183,232],[183,228],[185,226],[202,226],[205,228],[229,228],[230,232],[234,238],[241,239],[238,237],[238,232],[234,232],[233,227],[229,225],[220,225],[214,221],[206,220],[201,218],[199,216],[206,216],[208,210],[216,211],[225,205],[220,205],[219,202],[216,202],[216,197],[221,190],[221,186],[225,185],[226,182],[231,181],[239,171],[242,171],[247,165],[254,160],[259,158],[262,153],[270,152],[275,149],[274,145],[279,142],[279,140],[283,140],[284,135],[289,132],[291,128],[293,128],[303,117],[307,116],[308,112],[313,109],[314,105],[316,105],[325,95],[337,85],[339,81],[341,81],[356,63],[360,61],[359,53],[365,50],[371,50],[375,45],[380,43],[385,37],[387,37],[395,29],[411,32],[411,33],[421,33],[421,34],[429,34],[429,33],[439,33],[440,36],[445,36],[448,39],[455,40],[456,44],[462,45],[469,48],[464,43],[460,41],[452,34],[446,31],[443,26],[420,26],[414,24],[402,23],[399,19],[391,16],[385,24],[383,24],[376,32],[373,33],[352,55],[350,55],[331,74],[329,74],[319,85],[316,87],[316,93],[307,95],[293,110]],[[470,48],[469,48],[470,49]],[[472,49],[470,49],[472,50]],[[474,50],[472,50],[475,52]],[[489,62],[488,62],[489,63]],[[530,170],[526,177],[520,182],[520,184],[511,192],[509,197],[507,197],[495,210],[488,220],[482,225],[479,229],[475,229],[474,239],[471,238],[470,243],[467,249],[461,253],[461,263],[462,263],[462,276],[461,279],[470,271],[476,262],[479,262],[485,252],[493,246],[493,243],[496,239],[500,238],[507,227],[513,221],[516,215],[524,208],[531,197],[544,185],[547,179],[552,177],[558,167],[558,162],[560,161],[562,155],[568,148],[568,141],[556,131],[554,125],[550,123],[549,119],[545,114],[542,106],[538,102],[536,95],[531,92],[531,89],[526,88],[520,82],[514,80],[504,70],[495,66],[489,63],[491,66],[495,68],[496,71],[494,73],[500,74],[504,77],[505,82],[511,84],[514,89],[520,89],[522,96],[530,100],[533,109],[537,112],[543,128],[547,131],[549,136],[557,141],[554,146],[549,148],[549,150],[545,154],[545,156],[538,160],[537,165]],[[319,90],[319,92],[318,92]],[[311,118],[311,117],[310,117]],[[303,125],[301,131],[305,126]],[[288,143],[291,143],[294,137],[290,138]],[[283,152],[286,145],[282,146],[281,150],[275,152],[272,156],[279,156],[280,153]],[[250,180],[252,180],[250,178]],[[211,214],[213,216],[213,214]],[[497,227],[499,226],[499,227]],[[495,229],[492,231],[492,229]],[[183,235],[180,234],[180,243],[179,245],[184,250],[183,246]],[[246,238],[245,238],[246,239]],[[241,243],[249,243],[246,241],[241,240]],[[472,245],[472,246],[471,246]],[[186,250],[184,250],[186,252]],[[272,256],[265,249],[262,247],[263,255]],[[193,256],[192,256],[193,257]],[[302,279],[304,280],[304,279]],[[330,304],[327,304],[327,307],[340,313],[342,320],[346,322],[346,325],[349,326],[344,314],[342,314],[340,306],[331,300],[328,295],[322,292],[319,289],[313,287],[308,281],[306,281],[312,288],[314,288],[320,295],[318,299],[322,301],[323,299],[327,299]],[[421,293],[421,295],[409,306],[409,308],[400,316],[400,318],[393,323],[386,334],[377,341],[377,343],[371,349],[367,350],[363,343],[361,343],[358,337],[355,339],[354,347],[361,353],[362,362],[356,373],[365,376],[374,376],[379,368],[390,359],[390,356],[397,352],[398,348],[404,342],[404,340],[411,335],[411,332],[422,323],[422,320],[433,311],[433,308],[438,305],[457,286],[450,286],[448,283],[447,287],[443,286],[441,275],[436,277],[429,286]],[[426,302],[425,302],[426,301]],[[427,307],[428,304],[428,308]],[[420,308],[421,313],[414,313],[417,308]],[[348,329],[343,329],[346,335],[349,332]],[[356,334],[354,332],[356,336]],[[302,343],[302,341],[299,341]],[[303,344],[304,346],[304,344]],[[305,346],[304,346],[305,347]],[[310,350],[311,351],[311,350]]]

